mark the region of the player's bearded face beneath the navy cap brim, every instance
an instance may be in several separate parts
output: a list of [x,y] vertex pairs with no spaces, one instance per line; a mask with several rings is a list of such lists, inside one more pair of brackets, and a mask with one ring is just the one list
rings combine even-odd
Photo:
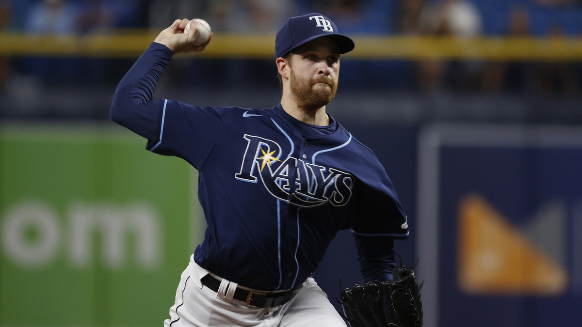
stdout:
[[290,91],[297,104],[319,109],[338,90],[339,48],[328,37],[316,38],[294,49],[290,60]]

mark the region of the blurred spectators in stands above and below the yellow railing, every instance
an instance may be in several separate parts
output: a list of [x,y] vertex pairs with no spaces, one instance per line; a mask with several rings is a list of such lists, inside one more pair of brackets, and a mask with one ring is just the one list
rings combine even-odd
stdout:
[[[582,0],[0,0],[0,33],[163,29],[178,17],[204,18],[215,32],[275,33],[287,17],[308,12],[328,16],[347,35],[582,35]],[[36,76],[40,84],[58,84],[82,74],[95,83],[108,83],[119,78],[112,62],[115,59],[0,57],[0,90],[10,76]],[[435,59],[347,66],[342,75],[350,78],[342,83],[350,86],[351,81],[354,87],[400,87],[428,94],[582,91],[579,63]]]

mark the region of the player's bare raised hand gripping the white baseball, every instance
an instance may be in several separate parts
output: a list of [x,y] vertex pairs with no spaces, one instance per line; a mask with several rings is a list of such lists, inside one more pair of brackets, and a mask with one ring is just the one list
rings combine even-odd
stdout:
[[212,40],[212,33],[210,33],[208,41],[204,44],[194,45],[194,40],[196,40],[196,36],[198,35],[198,28],[194,26],[190,33],[184,34],[184,29],[188,22],[190,22],[188,19],[176,19],[170,27],[159,33],[154,42],[164,44],[171,49],[174,54],[179,54],[180,52],[203,51],[208,43],[210,43],[210,40]]

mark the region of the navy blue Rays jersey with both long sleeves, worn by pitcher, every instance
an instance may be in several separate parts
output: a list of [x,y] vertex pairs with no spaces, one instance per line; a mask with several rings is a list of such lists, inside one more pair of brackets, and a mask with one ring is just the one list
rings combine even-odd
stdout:
[[364,279],[391,279],[392,239],[408,230],[374,153],[332,116],[313,126],[280,104],[152,101],[171,57],[153,43],[120,82],[111,117],[146,137],[148,150],[198,169],[208,228],[197,264],[254,289],[290,289],[317,269],[338,230],[352,228]]

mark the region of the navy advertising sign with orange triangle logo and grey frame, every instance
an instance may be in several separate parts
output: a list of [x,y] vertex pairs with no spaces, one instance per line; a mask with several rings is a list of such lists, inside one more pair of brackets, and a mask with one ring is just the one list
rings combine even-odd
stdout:
[[579,325],[582,130],[436,125],[419,142],[424,325]]

